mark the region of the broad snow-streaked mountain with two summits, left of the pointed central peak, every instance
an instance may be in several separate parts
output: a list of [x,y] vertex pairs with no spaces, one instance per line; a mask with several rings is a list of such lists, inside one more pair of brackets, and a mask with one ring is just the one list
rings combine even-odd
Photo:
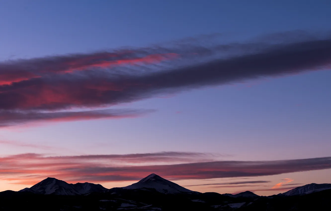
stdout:
[[24,188],[19,192],[33,192],[39,194],[55,195],[80,195],[91,192],[102,192],[108,190],[101,185],[93,183],[68,184],[65,181],[48,177],[47,179],[35,184],[31,188]]

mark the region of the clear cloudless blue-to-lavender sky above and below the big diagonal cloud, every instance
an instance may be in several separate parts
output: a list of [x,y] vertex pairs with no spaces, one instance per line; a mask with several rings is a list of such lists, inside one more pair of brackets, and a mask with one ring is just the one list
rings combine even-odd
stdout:
[[[0,1],[0,60],[144,47],[202,34],[239,40],[330,30],[331,1]],[[330,156],[331,72],[177,93],[122,107],[141,118],[1,129],[6,140],[57,154],[200,151],[236,160]],[[65,148],[65,150],[63,149]],[[3,145],[0,154],[49,152]],[[330,181],[331,182],[331,181]]]

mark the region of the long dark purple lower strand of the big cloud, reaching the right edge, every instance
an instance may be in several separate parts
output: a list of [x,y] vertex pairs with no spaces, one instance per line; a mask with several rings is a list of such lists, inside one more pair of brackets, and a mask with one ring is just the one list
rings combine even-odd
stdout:
[[326,69],[330,52],[331,40],[312,40],[150,73],[89,71],[38,77],[2,86],[0,108],[63,109],[132,102],[170,91]]

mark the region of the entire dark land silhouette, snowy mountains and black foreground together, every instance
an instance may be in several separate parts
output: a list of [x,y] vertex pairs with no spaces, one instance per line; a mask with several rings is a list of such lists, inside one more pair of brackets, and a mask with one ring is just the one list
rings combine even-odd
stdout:
[[259,196],[200,193],[151,174],[123,188],[68,184],[47,178],[31,188],[0,192],[0,211],[9,210],[328,210],[331,184],[309,184],[285,193]]

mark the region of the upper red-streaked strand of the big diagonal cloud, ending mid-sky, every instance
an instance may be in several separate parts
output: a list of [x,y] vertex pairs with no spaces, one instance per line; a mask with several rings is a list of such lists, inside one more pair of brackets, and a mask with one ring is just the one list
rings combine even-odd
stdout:
[[65,57],[47,57],[43,59],[18,60],[0,64],[0,85],[11,85],[15,82],[43,77],[54,73],[95,68],[111,68],[121,65],[157,64],[179,57],[176,53],[151,54],[138,57],[138,52],[123,51],[117,53],[94,53],[69,55]]

